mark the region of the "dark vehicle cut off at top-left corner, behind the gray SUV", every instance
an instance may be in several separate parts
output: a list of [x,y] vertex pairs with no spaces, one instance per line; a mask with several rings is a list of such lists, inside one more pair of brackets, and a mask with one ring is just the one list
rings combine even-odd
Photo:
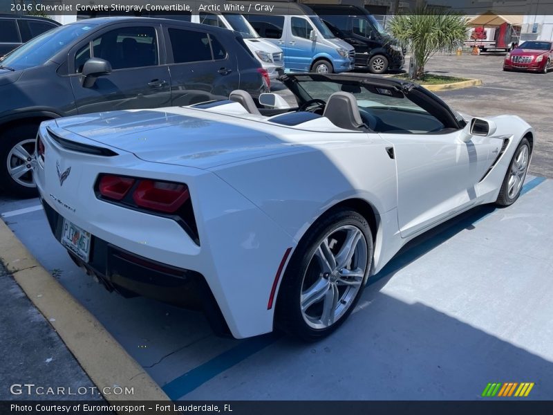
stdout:
[[0,15],[0,57],[57,26],[57,21],[44,17]]

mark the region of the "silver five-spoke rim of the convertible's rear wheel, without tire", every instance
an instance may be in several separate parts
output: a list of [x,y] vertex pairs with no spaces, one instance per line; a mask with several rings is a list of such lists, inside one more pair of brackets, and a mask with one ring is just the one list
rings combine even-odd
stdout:
[[301,285],[301,315],[312,329],[335,324],[364,283],[368,245],[362,230],[342,225],[326,234],[313,252]]

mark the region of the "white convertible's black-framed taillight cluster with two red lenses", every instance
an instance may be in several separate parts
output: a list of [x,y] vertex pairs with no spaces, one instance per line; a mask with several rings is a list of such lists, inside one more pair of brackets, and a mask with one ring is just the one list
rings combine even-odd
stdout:
[[94,190],[102,201],[173,219],[200,244],[190,192],[185,183],[100,174]]

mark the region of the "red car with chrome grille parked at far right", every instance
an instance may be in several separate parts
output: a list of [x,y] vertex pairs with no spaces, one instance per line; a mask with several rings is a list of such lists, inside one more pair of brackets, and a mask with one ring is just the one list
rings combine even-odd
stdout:
[[529,40],[505,55],[503,71],[521,69],[547,73],[553,68],[553,42]]

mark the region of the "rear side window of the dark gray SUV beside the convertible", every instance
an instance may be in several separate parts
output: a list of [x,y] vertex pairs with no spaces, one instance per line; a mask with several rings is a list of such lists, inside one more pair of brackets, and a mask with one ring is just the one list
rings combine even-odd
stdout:
[[227,56],[221,43],[207,33],[175,28],[169,28],[168,31],[176,64],[225,59]]

